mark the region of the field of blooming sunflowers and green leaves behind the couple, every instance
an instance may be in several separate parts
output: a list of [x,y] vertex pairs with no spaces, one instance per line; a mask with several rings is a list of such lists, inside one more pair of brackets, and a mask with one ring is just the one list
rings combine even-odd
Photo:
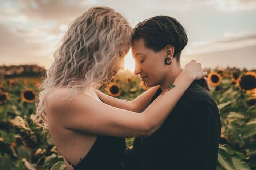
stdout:
[[[0,67],[1,170],[66,169],[49,133],[42,133],[31,119],[43,70],[35,65]],[[217,169],[256,169],[256,70],[227,67],[205,71],[221,116]],[[117,73],[99,88],[124,100],[133,100],[148,89],[129,70]],[[131,149],[133,138],[126,142]]]

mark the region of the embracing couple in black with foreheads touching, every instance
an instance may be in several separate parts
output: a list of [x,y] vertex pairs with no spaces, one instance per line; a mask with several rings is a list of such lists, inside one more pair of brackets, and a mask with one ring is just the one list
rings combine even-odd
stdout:
[[[68,170],[216,170],[220,116],[207,72],[180,64],[183,26],[155,16],[131,28],[108,7],[76,18],[54,53],[34,121],[49,130]],[[132,101],[99,90],[131,47],[134,74],[151,87]],[[125,137],[135,137],[125,150]]]

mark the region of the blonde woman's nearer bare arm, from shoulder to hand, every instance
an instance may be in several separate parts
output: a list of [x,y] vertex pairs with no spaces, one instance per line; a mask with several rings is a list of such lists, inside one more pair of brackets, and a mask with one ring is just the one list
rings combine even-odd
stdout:
[[[56,92],[48,96],[48,111],[52,113],[50,119],[56,119],[67,129],[85,133],[120,137],[150,136],[161,126],[185,90],[198,77],[192,74],[196,69],[184,70],[174,82],[176,87],[159,96],[142,113],[109,106],[83,93],[76,94],[71,101],[60,100],[67,93]],[[207,74],[196,71],[196,74],[200,72],[200,78]]]

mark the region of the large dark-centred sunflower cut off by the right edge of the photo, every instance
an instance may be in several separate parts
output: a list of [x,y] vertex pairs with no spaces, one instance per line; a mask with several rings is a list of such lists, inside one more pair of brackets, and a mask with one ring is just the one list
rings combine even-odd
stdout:
[[254,91],[256,88],[256,72],[248,71],[244,75],[240,75],[236,85],[242,91]]

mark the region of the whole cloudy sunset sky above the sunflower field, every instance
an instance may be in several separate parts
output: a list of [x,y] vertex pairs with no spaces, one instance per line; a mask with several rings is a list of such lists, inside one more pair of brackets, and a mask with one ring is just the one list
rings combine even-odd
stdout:
[[[96,5],[123,14],[134,27],[156,15],[176,18],[187,30],[181,65],[256,68],[256,0],[0,0],[0,65],[46,69],[70,22]],[[125,68],[133,71],[131,51]]]

